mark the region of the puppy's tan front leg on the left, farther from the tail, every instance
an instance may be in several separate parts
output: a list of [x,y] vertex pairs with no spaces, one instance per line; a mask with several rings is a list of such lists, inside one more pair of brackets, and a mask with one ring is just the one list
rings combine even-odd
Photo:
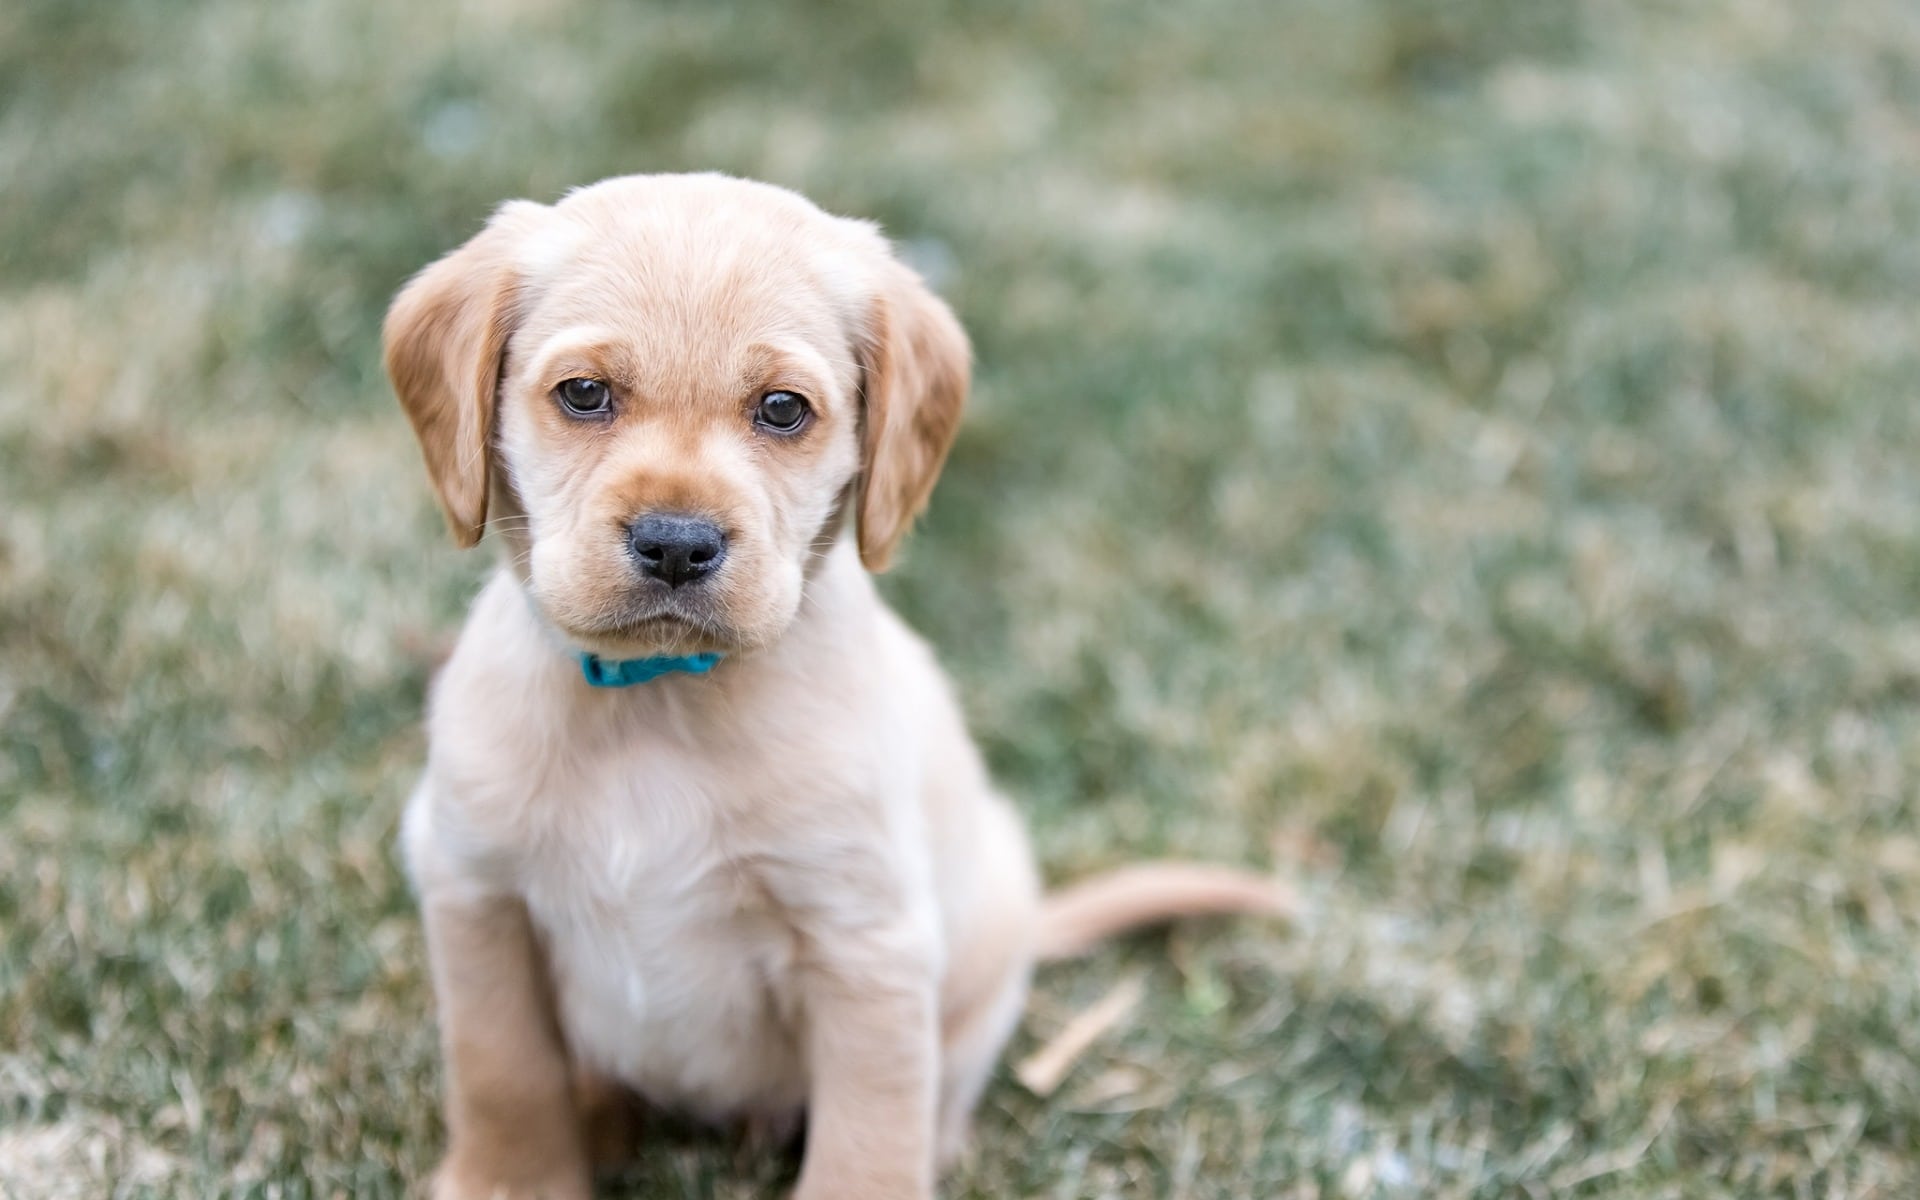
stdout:
[[545,964],[513,897],[424,899],[451,1146],[434,1200],[586,1200]]

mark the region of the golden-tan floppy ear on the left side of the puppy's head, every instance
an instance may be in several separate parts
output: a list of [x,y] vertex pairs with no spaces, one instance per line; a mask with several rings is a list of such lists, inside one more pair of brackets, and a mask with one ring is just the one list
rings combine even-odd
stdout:
[[461,547],[486,528],[493,405],[518,319],[515,248],[547,209],[515,200],[470,242],[420,271],[386,313],[386,374]]

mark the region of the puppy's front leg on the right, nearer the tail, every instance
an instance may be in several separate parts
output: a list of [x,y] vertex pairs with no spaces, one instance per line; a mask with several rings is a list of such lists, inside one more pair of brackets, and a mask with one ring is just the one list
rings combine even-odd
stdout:
[[929,1200],[935,956],[916,937],[852,937],[856,945],[833,947],[804,983],[812,1094],[793,1200]]

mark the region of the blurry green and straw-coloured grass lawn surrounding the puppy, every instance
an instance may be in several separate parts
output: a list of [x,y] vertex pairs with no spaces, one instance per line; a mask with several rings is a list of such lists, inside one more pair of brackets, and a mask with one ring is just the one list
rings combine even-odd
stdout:
[[[386,298],[507,196],[872,215],[979,390],[887,591],[1054,877],[1273,864],[947,1196],[1920,1190],[1920,10],[0,12],[0,1196],[397,1196],[488,557]],[[609,1194],[766,1194],[672,1137]]]

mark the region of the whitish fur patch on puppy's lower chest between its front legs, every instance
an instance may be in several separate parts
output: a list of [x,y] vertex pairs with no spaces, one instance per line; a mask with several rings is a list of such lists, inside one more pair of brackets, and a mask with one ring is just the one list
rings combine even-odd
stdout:
[[668,753],[566,783],[551,799],[568,820],[516,874],[572,1054],[676,1108],[797,1108],[799,929],[768,879],[778,860],[724,795],[739,783]]

